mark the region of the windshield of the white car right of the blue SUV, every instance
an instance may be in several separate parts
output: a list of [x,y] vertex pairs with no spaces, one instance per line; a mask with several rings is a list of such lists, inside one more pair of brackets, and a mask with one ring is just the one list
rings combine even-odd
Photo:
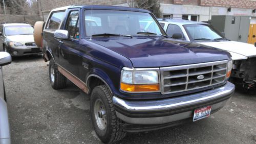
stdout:
[[216,40],[216,39],[225,39],[219,32],[214,28],[203,25],[203,24],[193,24],[193,25],[184,25],[183,26],[190,38],[193,40]]

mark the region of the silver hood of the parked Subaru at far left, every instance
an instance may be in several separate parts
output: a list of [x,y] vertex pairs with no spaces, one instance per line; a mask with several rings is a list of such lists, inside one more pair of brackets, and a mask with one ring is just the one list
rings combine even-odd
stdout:
[[13,36],[6,36],[9,41],[20,42],[25,44],[27,42],[34,42],[34,35],[13,35]]

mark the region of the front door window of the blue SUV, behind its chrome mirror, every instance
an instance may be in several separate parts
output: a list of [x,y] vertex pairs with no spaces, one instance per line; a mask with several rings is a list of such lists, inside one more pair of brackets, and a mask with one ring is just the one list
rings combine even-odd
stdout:
[[69,14],[66,30],[69,31],[70,38],[75,38],[75,39],[77,38],[77,28],[78,28],[78,38],[79,38],[79,26],[77,27],[78,16],[79,16],[78,11],[72,11]]

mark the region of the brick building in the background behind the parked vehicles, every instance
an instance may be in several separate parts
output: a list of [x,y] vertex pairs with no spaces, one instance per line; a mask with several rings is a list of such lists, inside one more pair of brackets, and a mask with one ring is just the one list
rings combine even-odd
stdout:
[[[131,0],[130,0],[131,1]],[[41,10],[67,5],[117,5],[128,6],[126,0],[39,0]],[[256,0],[160,0],[163,17],[184,17],[190,20],[207,21],[211,15],[247,15],[256,23]],[[228,11],[228,8],[231,8]]]

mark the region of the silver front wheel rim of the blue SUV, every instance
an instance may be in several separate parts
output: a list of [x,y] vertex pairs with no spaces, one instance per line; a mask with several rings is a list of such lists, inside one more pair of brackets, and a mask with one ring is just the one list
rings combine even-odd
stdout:
[[106,124],[108,124],[106,120],[106,110],[100,99],[97,99],[94,103],[94,116],[99,129],[105,130]]

